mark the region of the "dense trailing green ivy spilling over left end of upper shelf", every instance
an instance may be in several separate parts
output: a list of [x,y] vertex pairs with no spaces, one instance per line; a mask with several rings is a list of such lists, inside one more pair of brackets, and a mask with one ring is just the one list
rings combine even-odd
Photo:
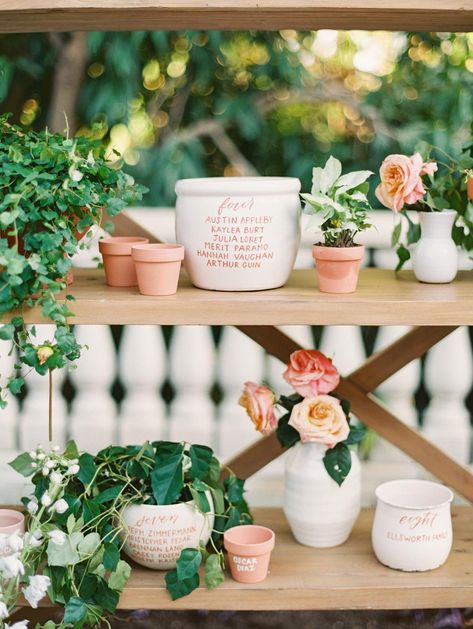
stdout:
[[[0,327],[0,339],[17,348],[18,368],[51,374],[81,352],[69,324],[74,298],[57,299],[71,256],[104,213],[115,216],[146,189],[112,167],[96,141],[24,130],[8,115],[0,116],[0,188],[0,318],[14,313]],[[56,324],[54,338],[41,343],[22,316],[35,305]],[[1,382],[0,407],[8,391],[16,395],[23,384],[16,370]]]

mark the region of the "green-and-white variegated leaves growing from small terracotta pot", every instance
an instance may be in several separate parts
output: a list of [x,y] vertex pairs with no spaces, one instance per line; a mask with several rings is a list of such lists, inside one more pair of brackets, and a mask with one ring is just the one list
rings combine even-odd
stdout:
[[359,170],[342,174],[342,164],[330,156],[324,168],[312,171],[312,190],[302,194],[304,212],[318,219],[326,247],[355,247],[358,232],[371,227],[367,179],[373,173]]

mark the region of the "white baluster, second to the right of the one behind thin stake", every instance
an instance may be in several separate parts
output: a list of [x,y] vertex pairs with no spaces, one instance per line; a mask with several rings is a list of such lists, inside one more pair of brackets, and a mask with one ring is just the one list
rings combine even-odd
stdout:
[[119,443],[163,439],[166,407],[160,388],[166,375],[166,348],[161,328],[128,325],[120,342],[119,370],[126,389],[119,422]]

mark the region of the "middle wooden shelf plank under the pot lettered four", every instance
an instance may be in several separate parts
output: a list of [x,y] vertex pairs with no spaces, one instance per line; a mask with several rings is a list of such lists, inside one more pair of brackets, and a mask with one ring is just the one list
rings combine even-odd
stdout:
[[[270,291],[226,293],[194,288],[181,277],[177,295],[145,297],[137,288],[109,288],[103,271],[76,269],[70,287],[73,323],[161,325],[473,325],[473,274],[452,284],[420,284],[411,272],[363,269],[358,290],[328,295],[313,270],[294,271]],[[28,323],[44,322],[38,309]]]

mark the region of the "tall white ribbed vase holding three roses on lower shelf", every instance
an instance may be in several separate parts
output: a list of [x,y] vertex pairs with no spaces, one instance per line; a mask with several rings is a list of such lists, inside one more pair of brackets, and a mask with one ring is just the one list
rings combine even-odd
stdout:
[[323,464],[327,448],[298,442],[286,457],[283,508],[296,540],[306,546],[338,546],[348,539],[361,506],[361,466],[351,451],[351,470],[341,486]]

